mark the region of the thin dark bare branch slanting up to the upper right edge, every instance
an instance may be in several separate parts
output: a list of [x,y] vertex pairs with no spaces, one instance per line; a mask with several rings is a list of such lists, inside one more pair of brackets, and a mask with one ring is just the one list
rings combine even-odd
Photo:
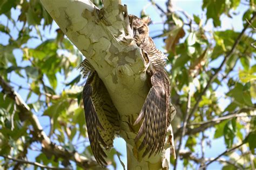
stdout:
[[[250,23],[252,23],[254,21],[254,19],[256,18],[255,13],[253,13],[252,18],[250,19]],[[188,120],[191,119],[192,115],[197,111],[198,105],[202,99],[202,97],[204,96],[204,94],[206,93],[206,91],[208,90],[208,88],[210,87],[210,85],[212,84],[213,80],[217,77],[218,73],[220,72],[220,70],[223,68],[223,66],[226,64],[227,59],[230,58],[235,50],[235,48],[237,47],[237,45],[239,44],[242,36],[244,35],[246,29],[250,26],[250,24],[246,23],[246,25],[244,26],[244,29],[242,29],[241,33],[239,34],[239,36],[237,37],[237,39],[235,40],[232,49],[230,51],[227,52],[226,56],[223,59],[223,62],[220,64],[220,66],[218,67],[218,69],[214,72],[214,74],[210,77],[210,79],[207,82],[207,85],[205,86],[203,92],[201,92],[199,94],[199,96],[197,97],[196,100],[196,104],[194,105],[194,107],[192,108],[189,116],[188,116]]]

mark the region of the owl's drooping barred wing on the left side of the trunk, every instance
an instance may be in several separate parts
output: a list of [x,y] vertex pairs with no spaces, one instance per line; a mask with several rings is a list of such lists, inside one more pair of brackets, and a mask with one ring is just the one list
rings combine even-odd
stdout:
[[97,72],[87,60],[81,65],[83,74],[88,75],[83,89],[87,133],[95,159],[107,165],[105,150],[113,146],[114,135],[119,132],[119,114]]

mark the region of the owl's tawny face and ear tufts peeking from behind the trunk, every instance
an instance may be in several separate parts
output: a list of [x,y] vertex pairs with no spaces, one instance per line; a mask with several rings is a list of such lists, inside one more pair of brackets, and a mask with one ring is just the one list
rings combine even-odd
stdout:
[[129,15],[131,28],[133,29],[133,37],[136,42],[143,42],[149,37],[149,24],[151,23],[150,17],[139,18],[134,15]]

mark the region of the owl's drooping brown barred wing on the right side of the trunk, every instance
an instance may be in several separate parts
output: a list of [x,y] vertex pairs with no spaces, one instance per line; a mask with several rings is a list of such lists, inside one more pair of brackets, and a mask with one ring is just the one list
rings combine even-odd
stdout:
[[137,142],[144,135],[139,151],[145,148],[143,157],[149,153],[158,153],[163,149],[167,123],[169,122],[169,77],[164,71],[153,73],[152,87],[134,125],[143,120],[142,126],[134,139]]

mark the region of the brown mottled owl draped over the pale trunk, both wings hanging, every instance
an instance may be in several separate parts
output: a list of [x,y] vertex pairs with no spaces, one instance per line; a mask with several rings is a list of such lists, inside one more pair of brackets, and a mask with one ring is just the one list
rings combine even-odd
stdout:
[[[142,48],[145,60],[150,64],[147,72],[151,77],[151,89],[134,124],[143,119],[142,126],[134,139],[138,142],[143,138],[139,150],[144,149],[143,157],[149,153],[160,152],[165,143],[167,127],[173,118],[175,109],[170,103],[169,76],[164,70],[165,55],[156,49],[156,45],[149,37],[149,18],[138,18],[129,15],[133,37],[136,44]],[[116,107],[97,72],[85,59],[80,69],[87,76],[83,89],[83,103],[87,133],[93,155],[100,165],[106,165],[105,149],[113,146],[114,135],[119,133],[120,117]],[[146,148],[145,148],[146,147]]]

